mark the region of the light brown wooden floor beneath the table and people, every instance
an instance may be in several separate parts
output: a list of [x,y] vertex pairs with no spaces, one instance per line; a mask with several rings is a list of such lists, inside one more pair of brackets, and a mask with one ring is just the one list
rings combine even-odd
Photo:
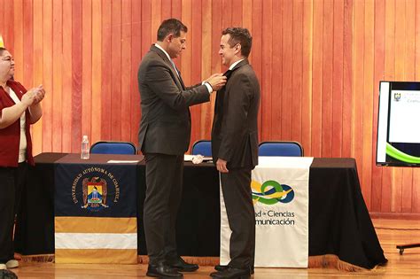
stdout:
[[[408,249],[403,255],[396,244],[420,243],[420,221],[373,220],[377,236],[389,260],[385,267],[362,272],[342,272],[331,268],[255,268],[254,278],[420,278],[420,248]],[[142,278],[147,265],[74,265],[21,262],[12,269],[19,278]],[[184,278],[209,278],[213,267],[200,267]]]

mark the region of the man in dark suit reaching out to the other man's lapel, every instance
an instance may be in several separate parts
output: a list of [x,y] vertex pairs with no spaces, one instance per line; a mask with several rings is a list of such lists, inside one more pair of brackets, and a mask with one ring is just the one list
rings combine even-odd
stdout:
[[187,27],[178,19],[163,21],[158,41],[138,69],[142,120],[138,133],[146,163],[144,233],[149,255],[148,276],[182,277],[195,271],[176,252],[175,221],[183,186],[183,154],[191,136],[190,105],[209,101],[226,82],[214,74],[202,84],[186,88],[172,58],[185,49]]

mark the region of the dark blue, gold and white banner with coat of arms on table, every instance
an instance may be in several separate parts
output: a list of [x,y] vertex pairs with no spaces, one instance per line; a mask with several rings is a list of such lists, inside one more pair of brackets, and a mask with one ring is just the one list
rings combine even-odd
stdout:
[[55,261],[137,263],[136,164],[55,166]]

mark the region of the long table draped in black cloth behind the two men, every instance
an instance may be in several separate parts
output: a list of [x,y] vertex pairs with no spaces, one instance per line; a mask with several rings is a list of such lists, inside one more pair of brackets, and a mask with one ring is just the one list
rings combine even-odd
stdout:
[[[16,252],[54,253],[54,162],[66,153],[42,153],[22,198]],[[114,155],[108,155],[115,159]],[[147,254],[143,229],[144,162],[137,165],[138,253]],[[177,221],[178,252],[218,257],[220,247],[219,177],[213,164],[185,163],[183,200]],[[362,197],[354,159],[315,158],[309,171],[309,256],[334,254],[358,267],[384,264]]]

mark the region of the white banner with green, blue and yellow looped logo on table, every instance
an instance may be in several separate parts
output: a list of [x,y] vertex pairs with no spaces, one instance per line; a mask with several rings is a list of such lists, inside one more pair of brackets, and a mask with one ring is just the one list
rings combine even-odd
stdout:
[[[313,158],[260,157],[252,173],[255,267],[307,267],[309,167]],[[221,186],[221,264],[229,263],[228,217]]]

